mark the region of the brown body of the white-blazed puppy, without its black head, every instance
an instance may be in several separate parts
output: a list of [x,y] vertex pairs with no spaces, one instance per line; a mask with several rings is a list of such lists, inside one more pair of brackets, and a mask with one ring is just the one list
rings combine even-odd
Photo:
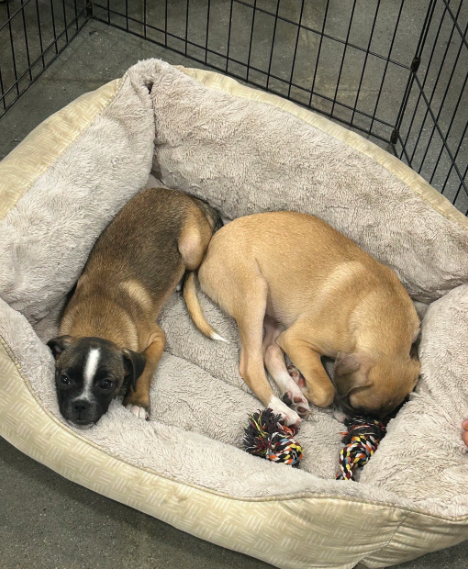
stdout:
[[[155,323],[186,269],[196,269],[215,220],[182,192],[152,188],[135,196],[96,242],[66,306],[60,335],[98,337],[143,353],[146,367],[126,405],[149,409],[165,337]],[[202,210],[203,209],[203,210]]]

